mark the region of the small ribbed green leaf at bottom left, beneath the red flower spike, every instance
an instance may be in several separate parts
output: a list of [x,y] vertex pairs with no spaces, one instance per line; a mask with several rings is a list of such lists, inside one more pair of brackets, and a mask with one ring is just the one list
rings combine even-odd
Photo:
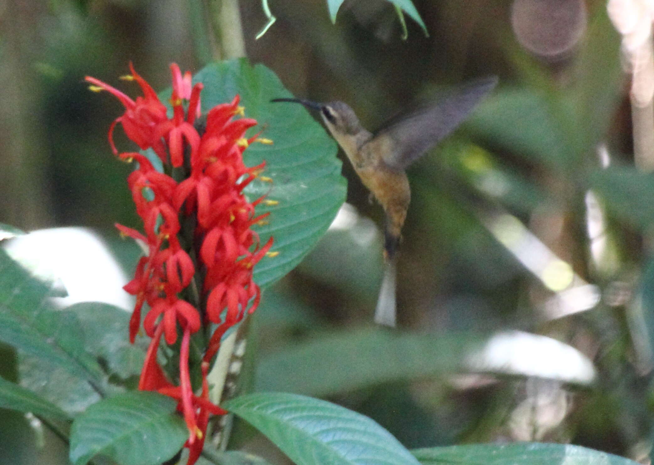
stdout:
[[106,455],[120,465],[154,465],[188,439],[177,402],[154,392],[128,392],[91,405],[71,429],[70,460],[84,465]]

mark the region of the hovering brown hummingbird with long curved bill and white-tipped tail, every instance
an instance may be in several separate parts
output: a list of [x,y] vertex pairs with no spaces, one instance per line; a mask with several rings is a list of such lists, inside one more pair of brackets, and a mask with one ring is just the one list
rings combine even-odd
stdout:
[[416,105],[412,111],[391,118],[374,133],[361,126],[353,109],[342,101],[271,100],[300,103],[320,112],[322,121],[349,158],[354,171],[384,209],[387,269],[375,309],[378,324],[396,324],[396,252],[411,201],[406,169],[461,124],[497,81],[497,77],[487,77],[468,82],[438,100]]

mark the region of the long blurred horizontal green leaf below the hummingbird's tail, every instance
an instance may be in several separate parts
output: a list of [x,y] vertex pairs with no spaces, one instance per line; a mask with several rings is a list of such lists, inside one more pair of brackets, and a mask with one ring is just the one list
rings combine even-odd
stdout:
[[385,330],[331,334],[262,358],[256,390],[324,396],[453,372],[462,367],[464,356],[481,343],[481,337],[461,334],[397,334]]

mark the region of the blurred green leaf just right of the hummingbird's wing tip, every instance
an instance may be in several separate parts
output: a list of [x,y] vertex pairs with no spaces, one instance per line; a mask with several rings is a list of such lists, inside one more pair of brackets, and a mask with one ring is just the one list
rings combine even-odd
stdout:
[[561,169],[569,163],[568,147],[547,109],[534,90],[504,88],[489,95],[466,126],[528,162]]

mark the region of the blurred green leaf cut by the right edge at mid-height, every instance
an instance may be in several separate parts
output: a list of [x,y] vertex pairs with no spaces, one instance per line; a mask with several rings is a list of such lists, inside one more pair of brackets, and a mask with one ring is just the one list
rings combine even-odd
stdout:
[[641,230],[654,222],[654,175],[634,167],[610,166],[592,173],[590,185],[617,218]]

